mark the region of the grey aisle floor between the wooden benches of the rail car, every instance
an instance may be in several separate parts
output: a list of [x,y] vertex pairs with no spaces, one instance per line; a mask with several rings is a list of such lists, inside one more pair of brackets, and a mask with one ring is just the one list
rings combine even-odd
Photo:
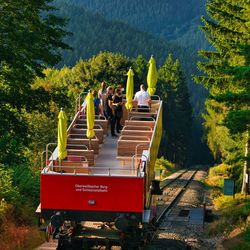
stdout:
[[111,176],[134,176],[136,171],[132,166],[123,166],[122,162],[117,160],[117,141],[119,137],[110,135],[104,139],[100,153],[95,160],[95,166],[92,173],[111,175]]

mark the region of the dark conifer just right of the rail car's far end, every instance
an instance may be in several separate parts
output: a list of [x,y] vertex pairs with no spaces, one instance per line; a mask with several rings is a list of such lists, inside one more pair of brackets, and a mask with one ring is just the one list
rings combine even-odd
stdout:
[[169,55],[159,70],[160,96],[164,101],[162,150],[168,160],[185,165],[191,134],[191,105],[180,62]]

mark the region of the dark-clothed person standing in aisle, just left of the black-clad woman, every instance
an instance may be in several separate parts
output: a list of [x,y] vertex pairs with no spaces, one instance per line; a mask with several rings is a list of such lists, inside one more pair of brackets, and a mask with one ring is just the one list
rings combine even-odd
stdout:
[[113,92],[114,92],[113,87],[107,88],[107,97],[104,105],[105,107],[104,115],[109,120],[111,136],[116,137],[117,135],[115,134],[115,110],[113,107]]

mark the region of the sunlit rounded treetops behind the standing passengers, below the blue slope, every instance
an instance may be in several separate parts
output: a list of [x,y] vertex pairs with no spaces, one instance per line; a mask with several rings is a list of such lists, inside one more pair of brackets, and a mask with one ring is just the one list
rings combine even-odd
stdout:
[[101,52],[88,60],[79,60],[72,68],[46,69],[45,78],[37,78],[34,87],[45,88],[51,94],[63,92],[64,100],[68,100],[66,108],[72,111],[79,93],[98,89],[102,81],[107,85],[125,85],[131,65],[132,61],[119,53]]

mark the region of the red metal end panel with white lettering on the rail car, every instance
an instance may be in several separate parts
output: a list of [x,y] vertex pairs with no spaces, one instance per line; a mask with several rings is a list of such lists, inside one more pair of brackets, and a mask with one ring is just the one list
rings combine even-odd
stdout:
[[144,179],[41,174],[41,208],[142,212]]

